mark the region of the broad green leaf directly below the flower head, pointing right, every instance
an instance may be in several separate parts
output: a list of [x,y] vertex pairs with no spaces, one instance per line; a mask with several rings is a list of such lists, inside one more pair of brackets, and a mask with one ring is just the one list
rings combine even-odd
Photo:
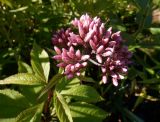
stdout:
[[75,86],[65,91],[62,90],[61,94],[80,101],[98,102],[103,100],[93,87],[85,85]]

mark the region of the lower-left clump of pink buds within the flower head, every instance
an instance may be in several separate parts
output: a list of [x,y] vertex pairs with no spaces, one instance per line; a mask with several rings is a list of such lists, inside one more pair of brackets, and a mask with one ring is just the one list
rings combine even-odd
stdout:
[[58,47],[54,47],[57,55],[53,56],[53,59],[59,61],[58,67],[64,68],[64,74],[68,78],[73,78],[76,74],[80,75],[82,68],[87,66],[87,60],[89,55],[81,55],[80,50],[75,51],[71,46],[69,50],[62,48],[62,51]]

